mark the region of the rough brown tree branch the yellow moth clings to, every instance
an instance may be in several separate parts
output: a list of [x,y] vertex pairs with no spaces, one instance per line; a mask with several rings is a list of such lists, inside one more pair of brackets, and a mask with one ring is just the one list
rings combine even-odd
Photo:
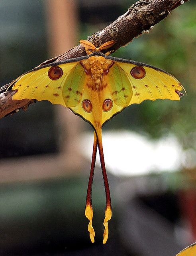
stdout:
[[[90,36],[88,40],[92,41],[95,46],[99,46],[100,43],[103,44],[104,42],[115,40],[116,43],[114,46],[112,46],[111,49],[107,49],[107,51],[116,51],[121,46],[131,42],[133,38],[137,38],[144,33],[149,33],[155,24],[166,18],[172,10],[187,1],[188,0],[139,0],[130,6],[125,14],[100,32]],[[62,55],[46,60],[39,66],[85,55],[84,47],[77,45]],[[11,90],[9,85],[10,84],[7,84],[0,88],[0,118],[14,114],[18,112],[20,108],[26,110],[29,104],[36,102],[36,100],[27,99],[12,100],[15,91]]]

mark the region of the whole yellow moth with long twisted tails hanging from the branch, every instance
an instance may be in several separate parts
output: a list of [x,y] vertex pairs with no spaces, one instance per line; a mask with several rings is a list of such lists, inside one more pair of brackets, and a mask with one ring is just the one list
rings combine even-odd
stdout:
[[86,40],[80,40],[80,44],[85,47],[87,56],[39,66],[19,76],[10,86],[16,90],[13,100],[49,100],[52,104],[61,104],[94,128],[85,215],[89,220],[90,239],[94,242],[91,192],[98,148],[106,193],[105,244],[112,208],[102,147],[102,126],[131,104],[156,99],[180,100],[183,95],[180,91],[184,88],[176,78],[159,68],[110,57],[111,52],[101,52],[111,48],[115,41],[106,42],[98,48]]

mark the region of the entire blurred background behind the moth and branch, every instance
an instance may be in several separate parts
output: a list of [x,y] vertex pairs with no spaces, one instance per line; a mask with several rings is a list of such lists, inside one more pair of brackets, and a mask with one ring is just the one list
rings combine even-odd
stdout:
[[[134,2],[1,0],[1,86],[106,27]],[[92,192],[94,244],[84,216],[92,128],[45,101],[2,118],[1,255],[170,256],[196,240],[195,11],[195,1],[183,4],[148,35],[113,54],[166,70],[187,95],[179,102],[131,105],[104,126],[103,146],[115,156],[107,162],[109,153],[105,155],[113,206],[106,245],[99,164]],[[127,138],[125,144],[113,147],[120,136]],[[138,138],[138,143],[128,138]],[[176,164],[165,158],[164,141]],[[163,148],[158,163],[156,150],[149,154],[149,143]],[[138,165],[129,154],[136,147]],[[121,166],[126,159],[126,172],[114,165],[114,160]]]

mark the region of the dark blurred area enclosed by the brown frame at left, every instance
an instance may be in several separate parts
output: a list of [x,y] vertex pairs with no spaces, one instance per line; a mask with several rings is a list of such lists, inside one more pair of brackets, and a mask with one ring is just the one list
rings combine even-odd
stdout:
[[[1,86],[49,58],[44,3],[1,1]],[[42,101],[12,118],[2,118],[0,157],[57,152],[54,109],[50,102]]]

